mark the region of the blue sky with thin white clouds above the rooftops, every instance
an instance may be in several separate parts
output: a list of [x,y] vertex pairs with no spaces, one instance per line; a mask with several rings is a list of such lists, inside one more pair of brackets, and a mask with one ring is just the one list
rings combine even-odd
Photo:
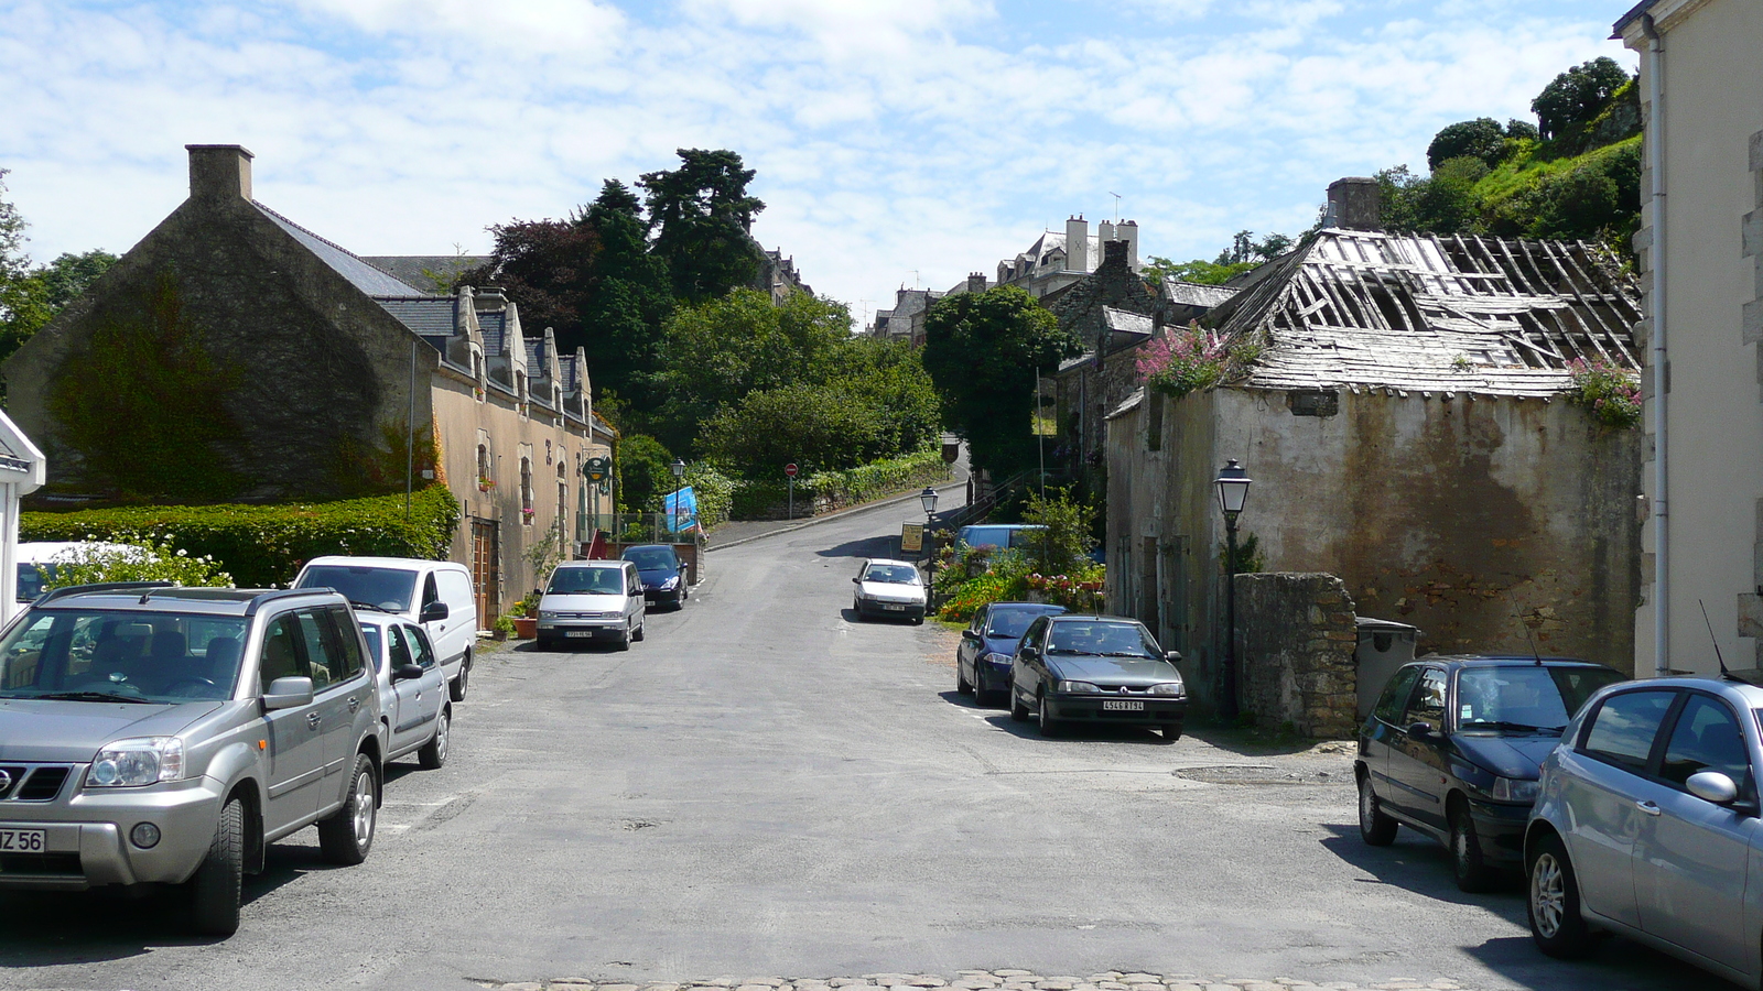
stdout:
[[[732,148],[753,235],[864,319],[1065,217],[1141,256],[1299,233],[1557,72],[1629,0],[0,0],[0,168],[30,254],[123,252],[183,145],[356,254],[487,252],[605,178]],[[1118,197],[1116,197],[1118,194]],[[1118,210],[1118,213],[1116,213]]]

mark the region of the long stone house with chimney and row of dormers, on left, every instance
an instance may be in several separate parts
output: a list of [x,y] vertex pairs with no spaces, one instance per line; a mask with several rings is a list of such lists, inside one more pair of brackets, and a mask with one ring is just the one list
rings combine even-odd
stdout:
[[250,152],[189,155],[189,199],[0,365],[48,455],[39,504],[317,501],[432,476],[464,506],[451,555],[487,622],[536,582],[527,548],[566,547],[591,515],[578,467],[614,434],[582,353],[499,293],[421,293],[257,203]]

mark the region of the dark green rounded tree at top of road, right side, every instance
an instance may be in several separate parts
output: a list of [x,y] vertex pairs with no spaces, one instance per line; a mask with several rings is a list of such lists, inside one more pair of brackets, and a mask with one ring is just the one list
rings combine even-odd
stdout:
[[973,466],[1008,476],[1035,464],[1037,370],[1082,353],[1079,340],[1015,286],[945,296],[926,314],[924,330],[924,369]]

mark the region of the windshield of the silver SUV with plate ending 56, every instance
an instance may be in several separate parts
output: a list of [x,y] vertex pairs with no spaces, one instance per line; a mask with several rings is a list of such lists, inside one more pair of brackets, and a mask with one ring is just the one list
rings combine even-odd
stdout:
[[234,615],[33,610],[0,640],[0,698],[233,698],[247,622]]

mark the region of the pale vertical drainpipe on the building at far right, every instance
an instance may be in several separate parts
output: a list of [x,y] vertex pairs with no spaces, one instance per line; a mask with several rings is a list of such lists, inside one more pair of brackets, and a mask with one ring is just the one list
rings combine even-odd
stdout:
[[1654,25],[1652,14],[1641,14],[1641,32],[1647,35],[1647,99],[1652,104],[1652,134],[1647,136],[1647,166],[1652,171],[1652,384],[1654,384],[1654,677],[1671,674],[1671,555],[1670,555],[1670,515],[1666,513],[1666,496],[1671,476],[1666,469],[1666,444],[1670,420],[1666,418],[1666,400],[1671,386],[1670,354],[1666,351],[1666,309],[1664,309],[1664,39]]

